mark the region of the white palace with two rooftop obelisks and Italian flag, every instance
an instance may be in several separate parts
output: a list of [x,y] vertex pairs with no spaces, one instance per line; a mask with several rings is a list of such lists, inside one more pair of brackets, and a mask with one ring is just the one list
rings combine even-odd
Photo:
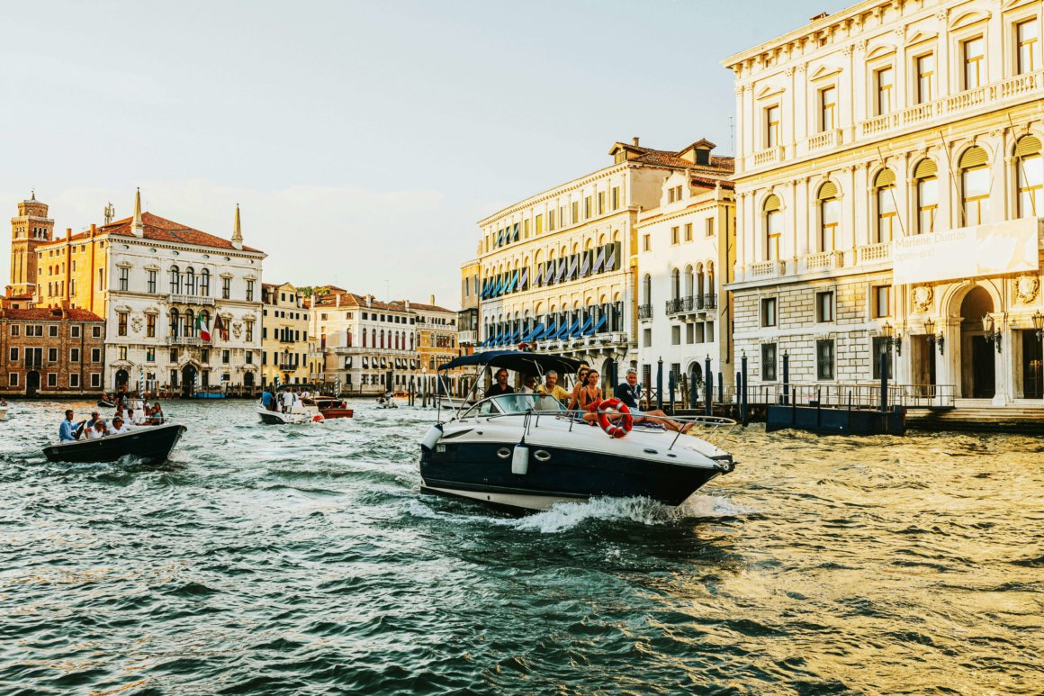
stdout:
[[[141,211],[37,249],[38,304],[105,318],[106,390],[260,382],[261,265],[236,208],[224,239]],[[210,340],[201,329],[209,329]]]

